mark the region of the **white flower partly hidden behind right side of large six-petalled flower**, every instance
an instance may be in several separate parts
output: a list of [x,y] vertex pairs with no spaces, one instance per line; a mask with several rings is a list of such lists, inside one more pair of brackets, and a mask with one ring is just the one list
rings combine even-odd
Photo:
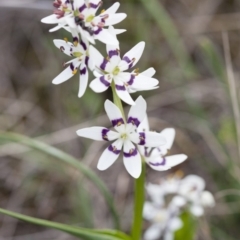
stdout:
[[[139,125],[138,131],[149,131],[147,116]],[[173,128],[165,128],[160,134],[166,139],[166,144],[156,148],[141,147],[140,150],[151,168],[157,171],[165,171],[184,162],[187,156],[185,154],[167,156],[175,138]]]

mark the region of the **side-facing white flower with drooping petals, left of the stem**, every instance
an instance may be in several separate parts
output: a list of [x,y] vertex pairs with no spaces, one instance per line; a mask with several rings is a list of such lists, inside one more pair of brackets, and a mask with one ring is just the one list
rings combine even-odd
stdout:
[[53,79],[53,84],[60,84],[74,76],[79,70],[79,91],[78,97],[82,97],[88,85],[88,67],[93,68],[92,60],[88,55],[89,43],[86,39],[79,40],[76,31],[72,30],[73,43],[67,40],[54,40],[54,44],[66,55],[74,57],[65,64],[70,64],[57,77]]

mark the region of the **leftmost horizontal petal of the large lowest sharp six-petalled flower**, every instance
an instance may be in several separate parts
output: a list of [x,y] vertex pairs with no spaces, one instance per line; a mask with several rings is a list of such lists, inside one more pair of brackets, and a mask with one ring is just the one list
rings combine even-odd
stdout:
[[104,127],[82,128],[77,131],[77,135],[96,141],[112,141],[119,137],[119,133]]

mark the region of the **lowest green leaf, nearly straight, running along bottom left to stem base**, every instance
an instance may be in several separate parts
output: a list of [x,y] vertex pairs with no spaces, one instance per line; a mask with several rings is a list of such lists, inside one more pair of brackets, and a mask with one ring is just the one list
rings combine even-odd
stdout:
[[0,208],[0,213],[16,218],[18,220],[28,222],[28,223],[32,223],[32,224],[36,224],[36,225],[48,227],[48,228],[54,228],[54,229],[69,233],[73,236],[81,237],[84,240],[96,240],[96,239],[98,240],[131,240],[129,236],[119,231],[94,230],[94,229],[69,226],[67,224],[29,217],[29,216],[8,211],[2,208]]

